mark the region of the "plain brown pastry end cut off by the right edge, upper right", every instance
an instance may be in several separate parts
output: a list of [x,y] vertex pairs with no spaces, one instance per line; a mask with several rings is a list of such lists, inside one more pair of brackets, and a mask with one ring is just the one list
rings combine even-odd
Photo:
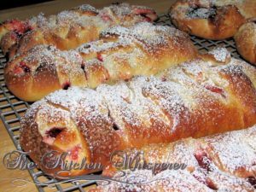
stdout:
[[239,54],[256,65],[256,22],[247,22],[242,25],[234,38]]

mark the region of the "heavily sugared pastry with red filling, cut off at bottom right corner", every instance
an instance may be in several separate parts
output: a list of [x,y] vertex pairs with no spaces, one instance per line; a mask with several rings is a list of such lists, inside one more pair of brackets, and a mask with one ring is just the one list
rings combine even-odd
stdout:
[[[255,191],[256,126],[213,137],[183,139],[116,153],[115,167],[103,172],[115,182],[102,183],[90,192],[114,191]],[[139,158],[138,158],[139,157]],[[138,162],[138,163],[137,163]],[[147,166],[143,165],[146,162]],[[137,163],[137,165],[136,165]],[[151,166],[150,166],[151,164]],[[145,165],[145,164],[144,164]],[[136,171],[133,169],[137,168]],[[132,169],[132,171],[131,171]],[[122,173],[122,174],[120,174]]]

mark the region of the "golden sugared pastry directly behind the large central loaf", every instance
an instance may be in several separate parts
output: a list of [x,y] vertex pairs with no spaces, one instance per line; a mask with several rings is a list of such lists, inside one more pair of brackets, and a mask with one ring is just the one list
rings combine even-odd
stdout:
[[76,50],[38,45],[17,55],[4,69],[5,83],[15,96],[33,102],[71,85],[95,88],[152,75],[197,55],[189,36],[170,26],[113,26],[100,36]]

